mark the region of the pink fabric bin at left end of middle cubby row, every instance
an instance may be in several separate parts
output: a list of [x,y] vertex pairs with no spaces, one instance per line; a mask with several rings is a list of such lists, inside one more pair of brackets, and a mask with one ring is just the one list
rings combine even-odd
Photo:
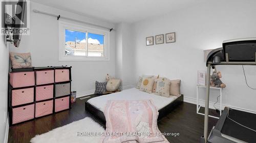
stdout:
[[12,90],[12,106],[34,101],[34,88]]

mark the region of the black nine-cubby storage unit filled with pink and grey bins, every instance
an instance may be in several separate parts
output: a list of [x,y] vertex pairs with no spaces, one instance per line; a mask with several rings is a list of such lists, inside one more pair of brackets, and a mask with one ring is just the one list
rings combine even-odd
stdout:
[[8,97],[10,126],[70,109],[71,68],[12,69]]

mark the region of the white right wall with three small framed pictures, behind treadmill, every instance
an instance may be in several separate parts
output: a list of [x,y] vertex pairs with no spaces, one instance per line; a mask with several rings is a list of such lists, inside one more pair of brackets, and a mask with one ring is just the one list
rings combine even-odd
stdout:
[[[256,37],[255,5],[255,1],[207,1],[134,23],[136,77],[160,74],[180,78],[182,94],[195,99],[197,71],[206,70],[203,50],[222,47],[222,42],[228,39]],[[176,43],[145,46],[145,37],[170,32],[176,32]],[[245,69],[249,84],[256,88],[256,67]],[[223,102],[256,111],[256,91],[246,87],[242,67],[219,66],[218,70],[227,84]],[[212,95],[210,101],[216,102],[216,98]]]

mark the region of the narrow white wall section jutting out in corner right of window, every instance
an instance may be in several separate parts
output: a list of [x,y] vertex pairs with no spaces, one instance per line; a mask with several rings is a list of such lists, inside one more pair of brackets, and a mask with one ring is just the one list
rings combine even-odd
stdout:
[[116,31],[116,78],[122,79],[122,88],[131,88],[134,83],[134,55],[132,51],[131,24],[118,23]]

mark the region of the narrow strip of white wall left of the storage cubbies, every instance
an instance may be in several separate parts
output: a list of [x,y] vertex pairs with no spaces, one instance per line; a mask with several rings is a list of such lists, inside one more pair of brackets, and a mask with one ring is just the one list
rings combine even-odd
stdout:
[[[1,1],[2,2],[2,1]],[[0,3],[1,3],[0,2]],[[2,3],[0,4],[0,8]],[[2,11],[0,16],[2,15]],[[2,18],[2,17],[1,17]],[[2,23],[2,19],[1,22]],[[5,37],[0,37],[0,142],[4,142],[7,122],[7,97],[8,97],[8,72],[9,72],[9,48],[5,45]]]

